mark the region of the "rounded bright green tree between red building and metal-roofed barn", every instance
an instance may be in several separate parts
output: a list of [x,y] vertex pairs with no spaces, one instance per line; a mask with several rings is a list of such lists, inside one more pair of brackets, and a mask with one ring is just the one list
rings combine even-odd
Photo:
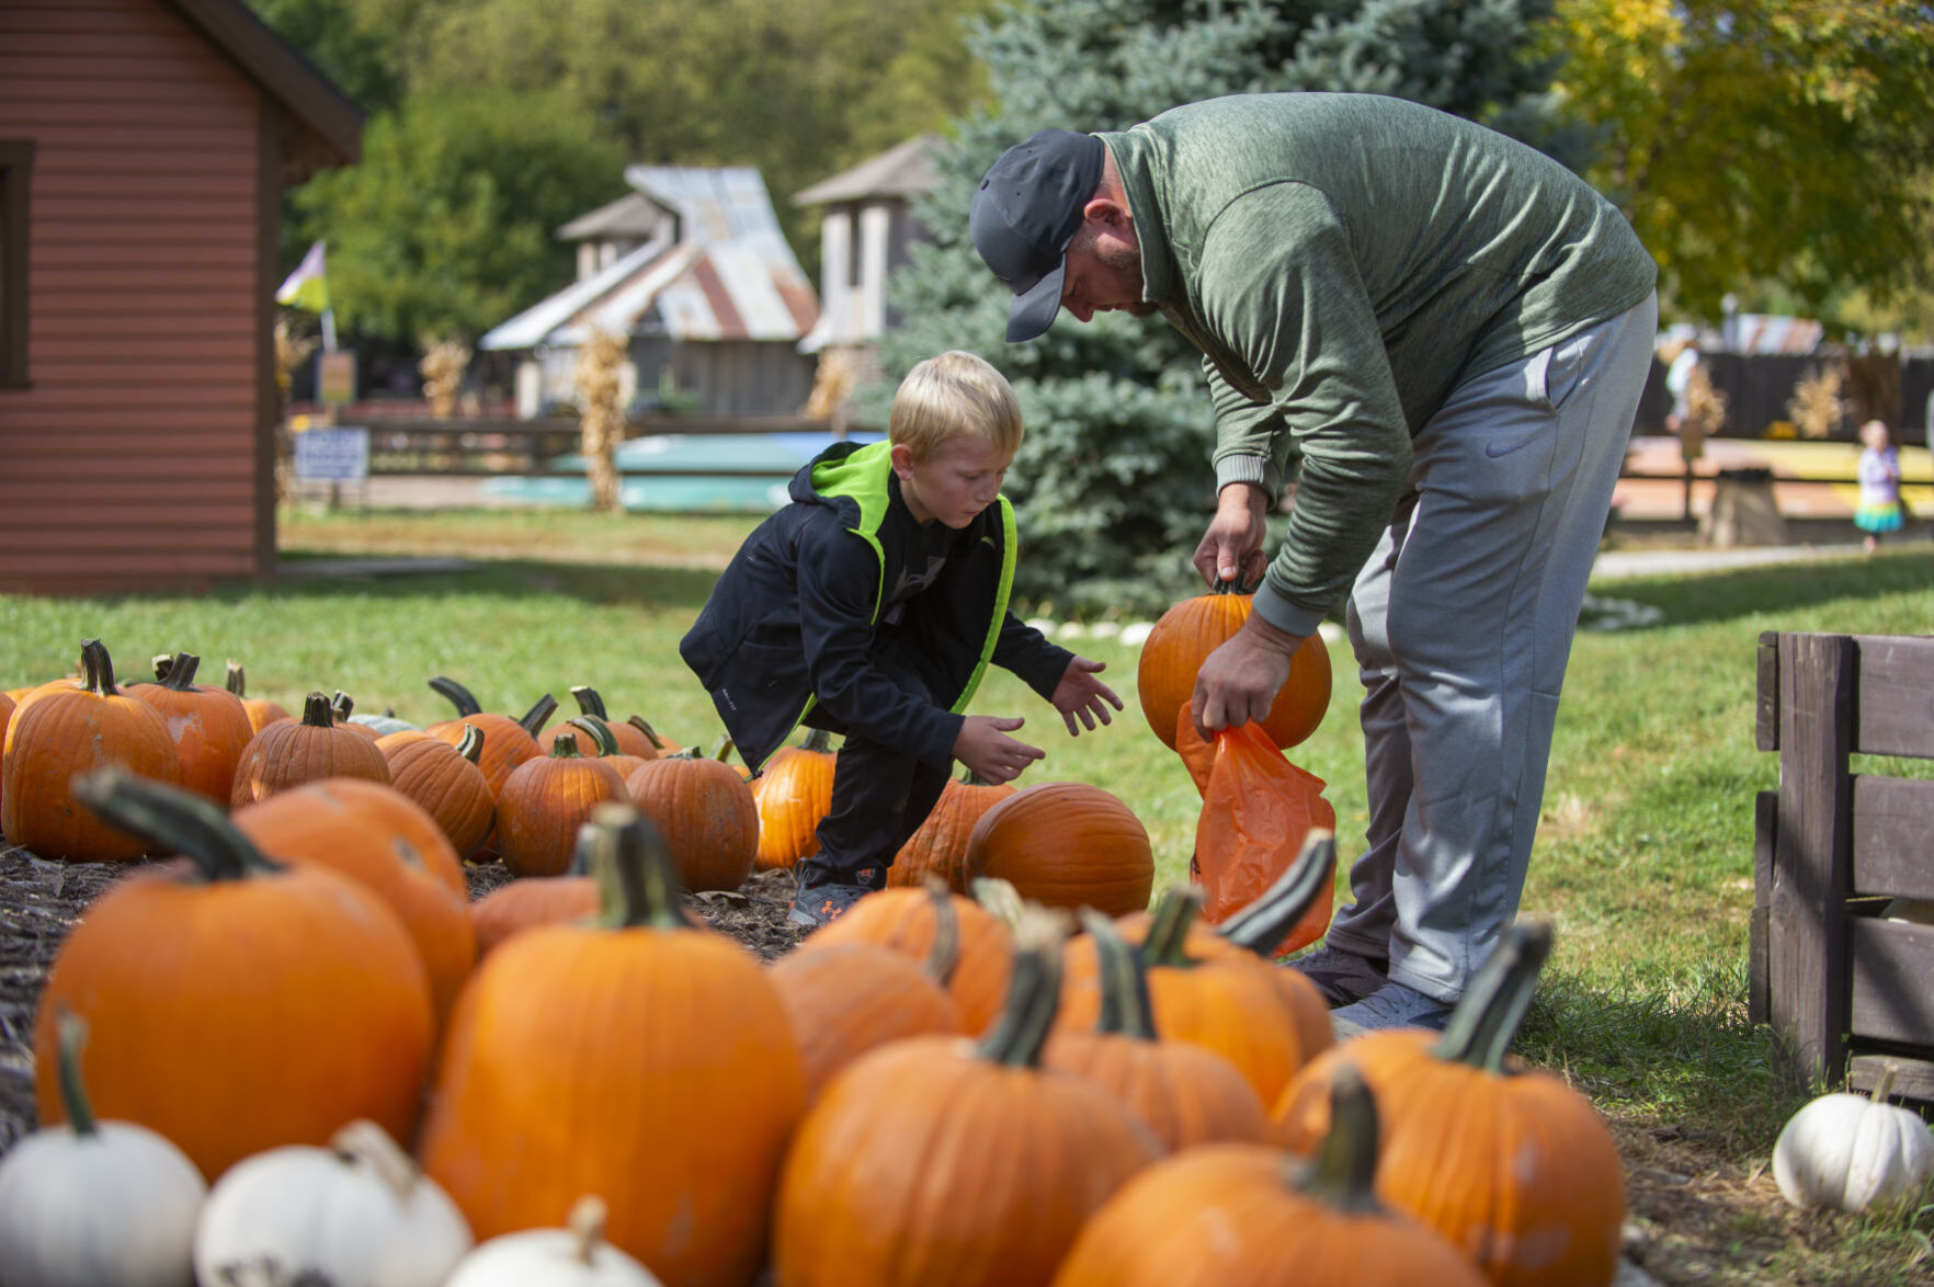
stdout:
[[625,191],[625,147],[555,95],[410,95],[369,122],[364,158],[309,180],[346,329],[474,340],[572,278],[553,236]]

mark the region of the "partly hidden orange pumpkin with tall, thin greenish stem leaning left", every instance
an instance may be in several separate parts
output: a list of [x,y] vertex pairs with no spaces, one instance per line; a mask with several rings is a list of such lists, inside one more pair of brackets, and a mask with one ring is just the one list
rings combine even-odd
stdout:
[[1269,1140],[1269,1113],[1222,1055],[1157,1036],[1141,955],[1095,910],[1081,912],[1100,953],[1100,1020],[1089,1032],[1056,1026],[1042,1065],[1085,1076],[1145,1121],[1166,1152],[1215,1140]]

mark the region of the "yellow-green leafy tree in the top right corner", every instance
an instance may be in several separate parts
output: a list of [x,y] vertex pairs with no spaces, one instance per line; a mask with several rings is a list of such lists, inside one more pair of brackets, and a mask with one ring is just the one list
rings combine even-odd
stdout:
[[1919,0],[1561,0],[1563,112],[1663,271],[1820,309],[1934,286],[1934,10]]

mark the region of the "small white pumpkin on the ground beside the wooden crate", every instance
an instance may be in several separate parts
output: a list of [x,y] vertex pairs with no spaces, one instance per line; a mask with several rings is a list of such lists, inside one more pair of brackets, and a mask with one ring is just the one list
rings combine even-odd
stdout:
[[1934,1136],[1919,1115],[1888,1103],[1891,1086],[1888,1065],[1872,1098],[1820,1096],[1787,1121],[1773,1144],[1773,1179],[1787,1202],[1864,1212],[1934,1175]]

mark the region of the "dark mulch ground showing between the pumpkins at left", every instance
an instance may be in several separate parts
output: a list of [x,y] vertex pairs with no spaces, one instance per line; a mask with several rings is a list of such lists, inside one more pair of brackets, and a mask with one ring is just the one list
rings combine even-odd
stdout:
[[[33,1020],[54,955],[87,904],[143,866],[48,862],[0,841],[0,1154],[39,1125]],[[472,899],[511,879],[499,864],[468,866],[466,873]],[[791,901],[789,872],[760,872],[735,891],[685,897],[696,916],[762,960],[785,955],[805,937],[805,930],[785,920]]]

